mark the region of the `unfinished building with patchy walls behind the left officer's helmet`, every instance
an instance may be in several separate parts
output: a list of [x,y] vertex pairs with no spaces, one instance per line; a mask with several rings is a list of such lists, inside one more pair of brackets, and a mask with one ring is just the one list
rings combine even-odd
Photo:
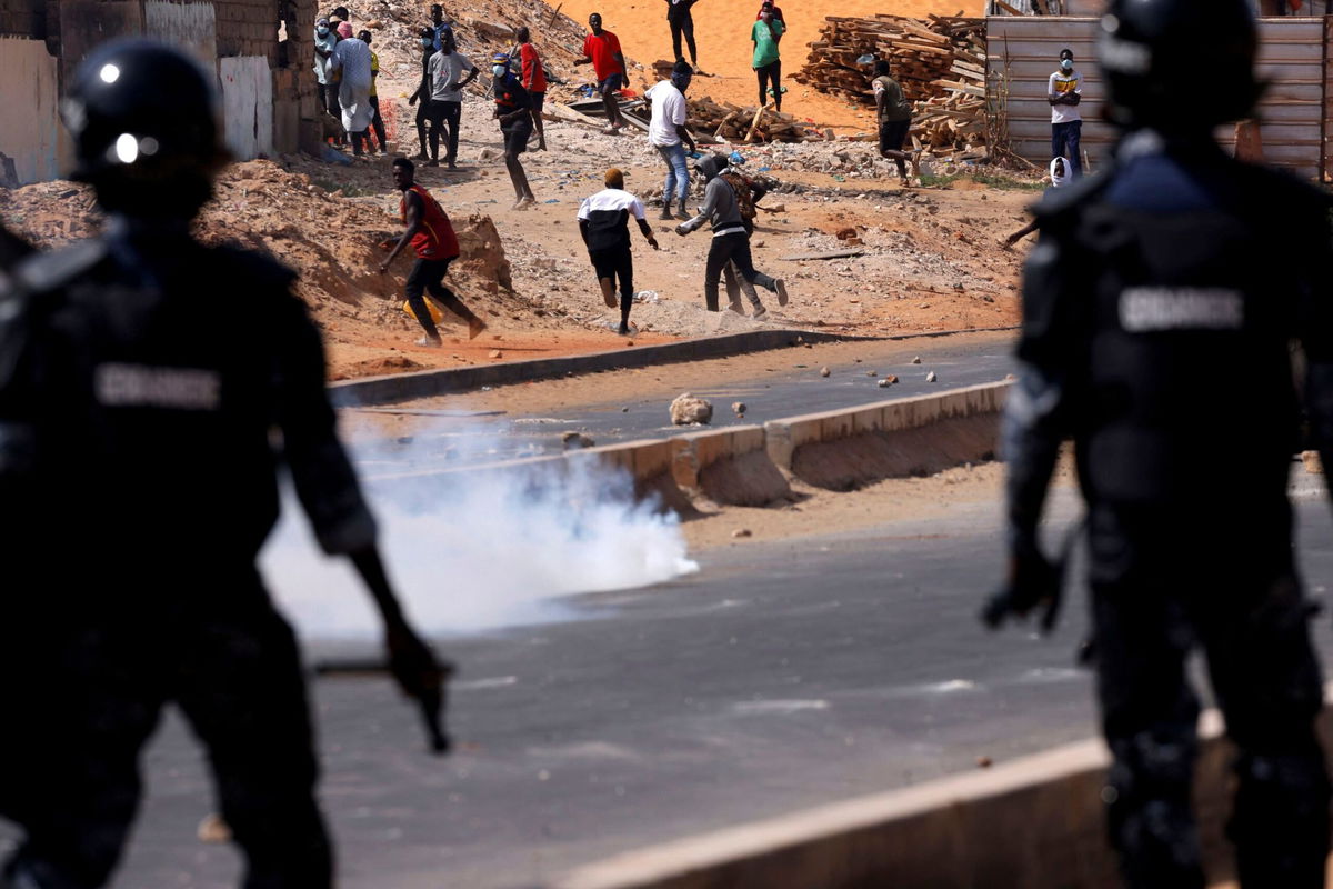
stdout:
[[99,44],[144,35],[176,44],[217,79],[239,159],[315,149],[313,0],[0,0],[0,184],[57,179],[71,144],[64,84]]

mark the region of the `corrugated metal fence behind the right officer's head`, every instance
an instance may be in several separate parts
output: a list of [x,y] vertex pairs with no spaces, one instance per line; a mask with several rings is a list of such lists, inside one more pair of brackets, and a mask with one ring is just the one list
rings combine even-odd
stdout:
[[[992,97],[1005,104],[1014,151],[1040,167],[1050,161],[1048,79],[1065,47],[1073,51],[1074,67],[1084,76],[1082,145],[1093,168],[1114,139],[1114,131],[1101,123],[1105,92],[1093,49],[1097,21],[1056,16],[986,20]],[[1330,37],[1325,19],[1260,20],[1260,75],[1270,84],[1258,109],[1264,156],[1309,179],[1322,179],[1329,169],[1325,120],[1333,111]],[[1206,69],[1181,76],[1181,103],[1189,101],[1192,91],[1209,88]],[[1218,136],[1228,144],[1234,140],[1232,128]]]

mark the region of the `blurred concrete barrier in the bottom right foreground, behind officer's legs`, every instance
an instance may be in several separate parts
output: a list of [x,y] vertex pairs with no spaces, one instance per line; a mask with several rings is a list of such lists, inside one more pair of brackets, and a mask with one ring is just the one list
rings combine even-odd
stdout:
[[[1325,740],[1329,710],[1320,718]],[[1234,876],[1224,821],[1232,749],[1200,720],[1196,773],[1204,861]],[[1100,801],[1109,764],[1082,741],[984,772],[848,800],[639,849],[577,868],[549,889],[1112,889],[1120,886]],[[1212,884],[1210,884],[1212,885]]]

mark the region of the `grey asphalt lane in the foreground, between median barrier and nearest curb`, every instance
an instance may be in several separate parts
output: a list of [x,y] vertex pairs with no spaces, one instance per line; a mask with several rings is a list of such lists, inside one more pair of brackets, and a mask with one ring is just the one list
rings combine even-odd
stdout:
[[[1057,498],[1068,524],[1070,497]],[[1328,508],[1300,506],[1312,589],[1333,577]],[[704,553],[680,581],[567,600],[565,620],[441,640],[464,668],[463,750],[421,752],[375,678],[317,684],[324,801],[348,889],[531,886],[607,854],[997,762],[1093,730],[1053,640],[984,633],[996,508]],[[1076,602],[1081,597],[1076,597]],[[1318,638],[1328,656],[1329,630]],[[121,889],[235,885],[200,752],[172,717]]]

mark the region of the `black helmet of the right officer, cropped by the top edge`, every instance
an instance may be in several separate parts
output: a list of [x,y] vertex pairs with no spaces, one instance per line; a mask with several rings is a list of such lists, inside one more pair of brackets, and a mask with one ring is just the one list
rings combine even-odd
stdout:
[[[1097,41],[1106,116],[1165,131],[1241,120],[1262,92],[1257,44],[1249,0],[1110,0]],[[1186,91],[1184,77],[1208,88]]]

